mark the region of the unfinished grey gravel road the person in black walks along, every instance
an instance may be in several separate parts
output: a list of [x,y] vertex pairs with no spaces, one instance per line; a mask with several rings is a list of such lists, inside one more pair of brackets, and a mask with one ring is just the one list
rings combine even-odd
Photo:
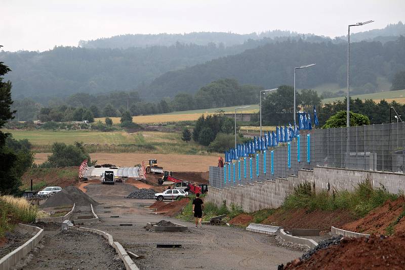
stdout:
[[[136,260],[146,268],[275,269],[301,255],[281,247],[274,237],[239,228],[203,226],[150,213],[154,200],[124,199],[133,186],[92,184],[87,194],[101,203],[95,208],[101,223],[91,227],[106,231],[127,250],[144,256]],[[119,216],[119,217],[111,217]],[[188,233],[155,233],[144,229],[146,222],[161,219],[189,226]],[[126,224],[126,226],[123,226]],[[129,226],[130,225],[130,226]],[[181,248],[156,248],[156,243],[181,244]]]

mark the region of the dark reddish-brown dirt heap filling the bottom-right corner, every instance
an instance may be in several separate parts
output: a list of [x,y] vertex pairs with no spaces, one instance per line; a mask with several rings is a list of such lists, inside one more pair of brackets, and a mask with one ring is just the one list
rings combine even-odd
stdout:
[[295,259],[285,269],[403,269],[405,234],[343,239],[315,252],[309,259]]

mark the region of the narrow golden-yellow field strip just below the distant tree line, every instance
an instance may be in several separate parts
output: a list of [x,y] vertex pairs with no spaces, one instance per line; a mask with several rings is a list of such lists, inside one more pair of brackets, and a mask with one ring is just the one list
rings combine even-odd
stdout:
[[[259,105],[247,105],[251,106],[250,108],[246,108],[242,110],[242,113],[256,113],[259,111]],[[142,116],[134,116],[132,120],[138,124],[153,124],[153,123],[164,123],[164,122],[179,122],[179,121],[194,121],[197,120],[202,114],[212,114],[215,113],[217,110],[223,110],[226,113],[234,113],[235,107],[222,107],[222,108],[214,108],[214,109],[203,109],[203,110],[192,110],[192,111],[181,111],[181,112],[171,112],[166,114],[155,114],[155,115],[142,115]],[[238,111],[240,113],[240,110]],[[104,117],[95,118],[95,121],[101,120],[104,122]],[[114,124],[119,123],[119,117],[111,117],[112,122]]]

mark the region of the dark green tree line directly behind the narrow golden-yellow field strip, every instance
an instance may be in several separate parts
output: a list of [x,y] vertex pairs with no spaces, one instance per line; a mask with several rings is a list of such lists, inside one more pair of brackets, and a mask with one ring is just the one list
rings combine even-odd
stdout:
[[201,87],[195,95],[179,93],[173,99],[166,98],[157,102],[143,101],[136,91],[98,95],[77,93],[69,96],[64,102],[50,102],[51,106],[47,107],[24,99],[14,102],[13,109],[17,110],[16,121],[39,119],[42,122],[93,122],[97,117],[121,117],[127,109],[131,116],[138,116],[255,104],[258,103],[258,93],[261,89],[262,87],[257,85],[240,85],[234,79],[220,79]]

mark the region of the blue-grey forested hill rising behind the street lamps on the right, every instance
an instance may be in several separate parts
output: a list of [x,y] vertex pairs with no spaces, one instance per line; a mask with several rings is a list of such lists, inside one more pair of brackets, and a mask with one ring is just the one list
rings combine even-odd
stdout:
[[[268,43],[156,78],[147,88],[155,95],[174,96],[178,92],[194,93],[201,86],[219,78],[235,78],[243,84],[272,88],[293,84],[293,68],[316,63],[297,72],[298,87],[323,83],[346,85],[347,44],[286,40]],[[354,87],[377,87],[377,78],[392,78],[405,70],[405,37],[384,44],[361,41],[351,44],[351,84]]]

